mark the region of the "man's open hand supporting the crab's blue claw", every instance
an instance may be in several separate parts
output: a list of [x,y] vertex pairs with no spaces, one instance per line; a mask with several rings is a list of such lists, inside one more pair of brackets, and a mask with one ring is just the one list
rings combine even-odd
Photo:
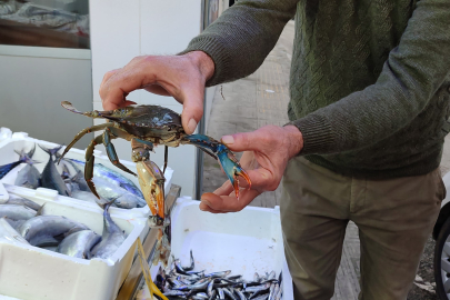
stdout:
[[[294,126],[266,126],[253,132],[222,137],[232,151],[244,151],[240,163],[249,173],[251,190],[240,191],[234,197],[230,181],[213,193],[201,197],[200,209],[213,213],[240,211],[263,191],[273,191],[280,184],[288,161],[303,148],[303,138]],[[247,188],[247,182],[239,184]]]

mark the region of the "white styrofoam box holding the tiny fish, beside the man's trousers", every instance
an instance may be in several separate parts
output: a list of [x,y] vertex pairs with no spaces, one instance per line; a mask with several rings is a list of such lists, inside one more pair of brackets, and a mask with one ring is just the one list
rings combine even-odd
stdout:
[[[283,299],[293,299],[292,278],[284,258],[280,210],[247,207],[234,213],[210,213],[199,201],[179,198],[171,213],[172,254],[188,264],[190,250],[196,270],[231,270],[252,280],[254,272],[282,271]],[[156,276],[158,268],[152,268]]]

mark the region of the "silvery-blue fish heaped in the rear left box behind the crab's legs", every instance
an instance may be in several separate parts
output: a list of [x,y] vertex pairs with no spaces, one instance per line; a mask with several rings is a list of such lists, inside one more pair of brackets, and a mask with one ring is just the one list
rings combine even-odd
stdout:
[[[39,187],[57,190],[61,196],[72,197],[79,200],[96,202],[97,197],[90,191],[84,180],[84,161],[64,158],[61,160],[62,172],[58,171],[56,161],[60,158],[58,151],[62,148],[47,149],[39,146],[49,154],[49,160],[42,170],[42,173],[33,166],[39,163],[32,160],[36,144],[30,152],[18,152],[19,160],[0,166],[0,180],[12,169],[21,163],[27,166],[22,168],[16,178],[14,186],[29,189]],[[56,159],[53,159],[53,157]],[[96,184],[97,192],[100,196],[100,202],[110,202],[114,200],[114,207],[122,209],[142,208],[147,206],[140,189],[127,177],[119,172],[96,163],[93,167],[92,182]]]

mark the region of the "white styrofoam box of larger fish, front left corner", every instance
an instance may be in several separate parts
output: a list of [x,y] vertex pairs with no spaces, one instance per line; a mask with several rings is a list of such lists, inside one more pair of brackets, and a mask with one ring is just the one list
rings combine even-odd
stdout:
[[[102,212],[46,200],[31,190],[28,193],[26,198],[46,203],[44,214],[64,216],[102,234]],[[0,294],[22,300],[114,299],[131,268],[136,241],[143,237],[147,220],[119,214],[111,214],[111,218],[124,230],[127,239],[107,260],[71,258],[38,247],[0,241]]]

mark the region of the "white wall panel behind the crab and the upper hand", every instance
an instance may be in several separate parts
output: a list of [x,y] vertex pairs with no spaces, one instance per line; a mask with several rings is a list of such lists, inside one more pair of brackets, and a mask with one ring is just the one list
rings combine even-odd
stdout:
[[[201,0],[94,0],[90,2],[93,109],[102,110],[98,90],[103,74],[121,68],[133,57],[174,54],[199,34]],[[134,91],[127,97],[140,104],[160,104],[181,112],[174,99]],[[100,122],[96,120],[94,123]],[[113,141],[121,159],[130,159],[130,143]],[[101,149],[99,147],[99,149]],[[101,149],[103,150],[103,149]],[[151,160],[163,163],[163,147],[156,149]],[[181,193],[193,196],[196,148],[181,146],[169,149],[172,182]]]

